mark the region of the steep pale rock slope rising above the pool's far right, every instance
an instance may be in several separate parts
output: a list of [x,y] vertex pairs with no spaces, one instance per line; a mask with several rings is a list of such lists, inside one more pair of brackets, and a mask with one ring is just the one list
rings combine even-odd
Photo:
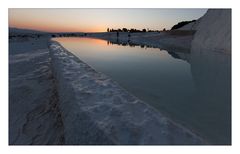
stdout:
[[231,53],[231,9],[209,9],[197,25],[192,51]]

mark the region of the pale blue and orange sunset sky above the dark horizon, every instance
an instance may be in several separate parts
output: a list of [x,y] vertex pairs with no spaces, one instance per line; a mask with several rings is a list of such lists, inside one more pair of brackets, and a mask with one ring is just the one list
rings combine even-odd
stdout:
[[107,28],[170,29],[207,9],[9,9],[9,27],[46,32],[105,32]]

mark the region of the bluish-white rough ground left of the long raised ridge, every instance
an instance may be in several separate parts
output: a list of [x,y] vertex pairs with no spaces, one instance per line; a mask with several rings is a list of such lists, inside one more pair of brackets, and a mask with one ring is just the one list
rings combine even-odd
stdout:
[[9,42],[9,144],[62,144],[48,38]]

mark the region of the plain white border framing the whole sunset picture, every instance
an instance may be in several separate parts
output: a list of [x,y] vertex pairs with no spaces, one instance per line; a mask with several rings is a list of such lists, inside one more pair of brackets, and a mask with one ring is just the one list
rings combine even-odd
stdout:
[[[237,0],[1,0],[0,2],[0,153],[239,153],[240,79],[237,49],[240,8]],[[8,145],[8,8],[232,8],[232,146],[9,146]]]

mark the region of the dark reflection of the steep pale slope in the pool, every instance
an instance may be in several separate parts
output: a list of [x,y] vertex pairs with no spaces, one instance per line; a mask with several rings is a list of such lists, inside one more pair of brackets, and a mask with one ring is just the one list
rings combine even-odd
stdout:
[[[215,143],[231,143],[231,55],[207,50],[191,51],[191,72],[197,90],[193,116],[201,119],[202,127]],[[198,113],[199,112],[199,113]],[[196,125],[198,121],[195,121]]]

